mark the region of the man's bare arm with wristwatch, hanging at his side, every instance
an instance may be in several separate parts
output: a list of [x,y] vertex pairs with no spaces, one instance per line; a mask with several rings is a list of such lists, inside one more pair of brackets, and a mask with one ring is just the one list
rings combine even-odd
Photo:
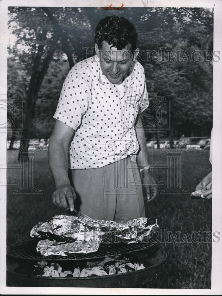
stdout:
[[137,164],[142,173],[142,184],[146,189],[146,199],[147,201],[153,200],[157,195],[158,187],[156,182],[153,179],[153,172],[148,168],[149,161],[148,161],[148,154],[146,149],[146,137],[144,133],[144,129],[142,124],[139,120],[136,121],[135,124],[136,129],[136,137],[139,143],[139,152],[137,154]]

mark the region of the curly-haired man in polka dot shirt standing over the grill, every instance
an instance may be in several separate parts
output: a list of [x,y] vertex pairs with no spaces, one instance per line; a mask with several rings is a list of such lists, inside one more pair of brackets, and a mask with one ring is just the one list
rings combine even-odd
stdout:
[[144,131],[136,122],[148,106],[136,41],[127,19],[105,17],[96,28],[96,55],[77,63],[66,77],[48,150],[58,207],[73,211],[78,200],[80,210],[94,219],[145,216],[138,166],[147,200],[156,197]]

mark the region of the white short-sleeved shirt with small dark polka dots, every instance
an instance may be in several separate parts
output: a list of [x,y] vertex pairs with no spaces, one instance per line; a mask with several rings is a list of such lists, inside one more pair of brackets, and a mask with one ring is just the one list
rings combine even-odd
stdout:
[[100,168],[136,156],[134,124],[138,111],[147,107],[146,80],[139,62],[132,62],[120,91],[102,73],[97,56],[77,63],[64,81],[53,116],[75,131],[69,167]]

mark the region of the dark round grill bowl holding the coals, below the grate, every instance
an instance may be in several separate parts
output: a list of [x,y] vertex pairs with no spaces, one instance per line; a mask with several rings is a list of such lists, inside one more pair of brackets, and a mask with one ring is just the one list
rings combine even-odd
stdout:
[[136,255],[143,258],[144,262],[152,265],[124,274],[81,278],[25,276],[14,271],[21,263],[21,260],[7,256],[6,284],[11,287],[142,288],[144,285],[152,283],[158,277],[161,277],[167,254],[159,247],[155,247],[152,252],[139,250]]

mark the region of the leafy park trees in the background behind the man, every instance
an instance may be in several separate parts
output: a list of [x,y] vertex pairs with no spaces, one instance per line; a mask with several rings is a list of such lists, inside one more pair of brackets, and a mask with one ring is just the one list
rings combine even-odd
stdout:
[[[92,54],[94,29],[107,15],[119,15],[135,24],[147,88],[171,102],[172,123],[166,136],[209,135],[212,126],[213,73],[205,62],[171,62],[169,51],[200,50],[213,32],[213,12],[204,8],[9,7],[9,30],[16,41],[9,46],[8,94],[25,102],[23,138],[48,138],[53,128],[62,83],[76,62]],[[165,48],[161,54],[161,48]],[[87,49],[87,50],[86,50]],[[156,51],[158,61],[147,53]],[[88,55],[89,56],[89,55]],[[151,57],[155,56],[154,55]],[[164,61],[160,61],[164,57]],[[152,97],[152,96],[151,96]],[[152,110],[144,115],[152,122]],[[168,117],[167,117],[168,116]],[[19,121],[19,119],[18,119]],[[151,128],[152,131],[152,128]],[[21,135],[21,136],[22,136]]]

